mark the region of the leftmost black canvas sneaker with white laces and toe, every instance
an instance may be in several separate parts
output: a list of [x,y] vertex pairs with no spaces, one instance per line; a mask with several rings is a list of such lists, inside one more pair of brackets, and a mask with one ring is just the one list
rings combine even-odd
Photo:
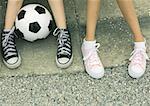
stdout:
[[16,49],[14,30],[15,27],[10,31],[4,30],[1,38],[3,62],[11,69],[17,68],[21,64],[21,57]]

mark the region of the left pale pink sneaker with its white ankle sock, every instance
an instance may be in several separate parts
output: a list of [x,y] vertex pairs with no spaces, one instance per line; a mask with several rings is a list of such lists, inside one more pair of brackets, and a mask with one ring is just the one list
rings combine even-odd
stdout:
[[96,41],[84,39],[81,47],[85,69],[91,77],[97,79],[104,76],[104,67],[97,53],[99,46]]

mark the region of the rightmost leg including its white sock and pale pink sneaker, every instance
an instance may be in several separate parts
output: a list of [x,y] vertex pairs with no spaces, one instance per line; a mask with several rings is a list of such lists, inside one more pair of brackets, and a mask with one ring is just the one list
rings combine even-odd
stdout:
[[146,70],[146,47],[132,0],[117,0],[118,5],[134,34],[134,51],[130,57],[128,73],[133,78],[140,78]]

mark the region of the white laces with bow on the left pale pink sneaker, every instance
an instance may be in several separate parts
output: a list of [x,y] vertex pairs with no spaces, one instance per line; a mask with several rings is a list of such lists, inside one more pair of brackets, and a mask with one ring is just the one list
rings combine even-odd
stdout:
[[99,64],[99,60],[98,60],[98,57],[97,57],[97,52],[99,52],[98,48],[100,47],[100,44],[96,43],[94,46],[95,46],[95,48],[93,48],[93,50],[91,50],[89,52],[89,54],[86,57],[83,58],[83,60],[90,59],[90,61],[89,61],[90,65]]

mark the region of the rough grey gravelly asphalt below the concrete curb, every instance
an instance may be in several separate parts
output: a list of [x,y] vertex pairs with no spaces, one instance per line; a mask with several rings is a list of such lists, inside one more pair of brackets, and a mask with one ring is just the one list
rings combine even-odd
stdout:
[[106,68],[95,80],[85,72],[0,78],[0,106],[149,106],[150,63],[132,79],[127,65]]

